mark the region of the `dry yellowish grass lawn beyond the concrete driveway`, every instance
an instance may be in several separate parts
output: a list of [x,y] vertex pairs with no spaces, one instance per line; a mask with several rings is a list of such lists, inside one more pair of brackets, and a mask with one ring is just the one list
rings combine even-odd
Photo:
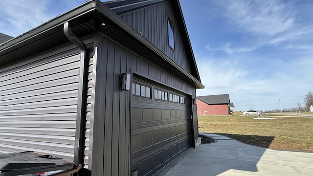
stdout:
[[[268,115],[268,114],[266,114]],[[253,116],[198,116],[199,132],[218,133],[269,149],[313,151],[313,118]]]

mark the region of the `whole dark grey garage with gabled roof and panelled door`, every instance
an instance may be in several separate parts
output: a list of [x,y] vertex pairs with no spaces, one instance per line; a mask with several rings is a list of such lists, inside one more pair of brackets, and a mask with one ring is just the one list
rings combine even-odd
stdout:
[[179,0],[89,0],[0,44],[0,83],[0,154],[151,176],[200,145],[204,86]]

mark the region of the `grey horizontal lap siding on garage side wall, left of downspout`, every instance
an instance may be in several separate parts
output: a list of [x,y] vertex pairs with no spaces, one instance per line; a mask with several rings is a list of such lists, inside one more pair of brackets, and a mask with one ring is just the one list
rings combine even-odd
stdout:
[[79,59],[75,54],[1,69],[0,154],[37,151],[73,160]]

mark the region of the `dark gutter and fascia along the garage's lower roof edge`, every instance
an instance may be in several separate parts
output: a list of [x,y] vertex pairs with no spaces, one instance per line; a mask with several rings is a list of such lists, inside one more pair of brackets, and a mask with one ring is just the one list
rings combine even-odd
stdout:
[[20,49],[27,44],[32,44],[51,33],[53,34],[54,30],[54,32],[60,32],[59,28],[63,28],[64,22],[71,22],[75,19],[78,19],[78,17],[80,16],[84,16],[87,13],[92,13],[95,16],[96,14],[94,13],[102,14],[106,18],[106,20],[108,20],[110,23],[112,23],[114,27],[116,27],[117,30],[120,30],[120,32],[132,39],[136,44],[140,44],[140,46],[146,49],[149,53],[157,56],[158,58],[163,60],[164,63],[173,68],[173,70],[176,70],[176,76],[183,77],[184,80],[186,80],[187,83],[194,88],[204,88],[204,86],[200,82],[200,79],[197,79],[192,74],[188,73],[186,70],[180,67],[161,50],[159,50],[154,44],[141,36],[140,33],[135,31],[131,25],[121,19],[115,12],[113,12],[109,7],[104,5],[100,0],[89,0],[88,2],[81,4],[80,6],[68,11],[67,13],[57,16],[49,22],[42,24],[1,45],[0,57],[12,51],[15,51],[16,49]]

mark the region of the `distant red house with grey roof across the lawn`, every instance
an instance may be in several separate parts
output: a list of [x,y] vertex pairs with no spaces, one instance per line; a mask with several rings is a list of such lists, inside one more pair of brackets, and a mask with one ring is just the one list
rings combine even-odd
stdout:
[[229,94],[197,97],[198,115],[229,115]]

